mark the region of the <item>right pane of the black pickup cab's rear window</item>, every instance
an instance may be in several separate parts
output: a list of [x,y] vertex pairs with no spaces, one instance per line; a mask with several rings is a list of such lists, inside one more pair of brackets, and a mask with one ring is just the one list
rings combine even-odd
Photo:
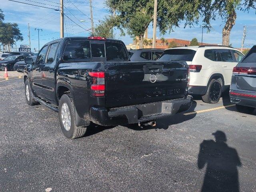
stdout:
[[128,61],[126,50],[121,43],[106,42],[105,46],[107,61]]

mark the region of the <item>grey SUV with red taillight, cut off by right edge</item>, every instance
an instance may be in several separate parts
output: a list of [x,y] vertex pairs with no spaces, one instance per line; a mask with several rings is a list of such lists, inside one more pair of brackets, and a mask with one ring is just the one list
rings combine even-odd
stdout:
[[256,45],[234,67],[229,94],[238,111],[252,113],[256,108]]

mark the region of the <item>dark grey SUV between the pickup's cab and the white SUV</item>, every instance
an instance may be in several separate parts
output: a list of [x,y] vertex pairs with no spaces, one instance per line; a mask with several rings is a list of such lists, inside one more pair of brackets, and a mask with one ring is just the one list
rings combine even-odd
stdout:
[[156,61],[163,52],[163,49],[128,50],[131,61]]

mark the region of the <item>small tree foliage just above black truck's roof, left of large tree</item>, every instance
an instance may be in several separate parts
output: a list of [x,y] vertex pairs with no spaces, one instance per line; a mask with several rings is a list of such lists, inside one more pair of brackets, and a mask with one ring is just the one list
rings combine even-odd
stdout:
[[[114,27],[114,25],[111,17],[106,16],[104,20],[99,20],[99,24],[94,28],[94,36],[114,38],[114,33],[112,37],[112,27]],[[92,35],[92,33],[90,33],[90,35]]]

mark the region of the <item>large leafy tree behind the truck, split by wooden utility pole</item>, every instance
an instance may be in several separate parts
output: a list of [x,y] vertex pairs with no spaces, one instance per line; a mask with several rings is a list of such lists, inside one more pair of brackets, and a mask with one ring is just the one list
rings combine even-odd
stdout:
[[[124,34],[139,37],[140,48],[143,47],[143,35],[153,20],[153,0],[106,0],[110,10],[115,10],[115,25]],[[199,13],[194,7],[198,3],[191,0],[158,0],[157,25],[161,34],[172,31],[181,21],[185,26],[198,22]]]

